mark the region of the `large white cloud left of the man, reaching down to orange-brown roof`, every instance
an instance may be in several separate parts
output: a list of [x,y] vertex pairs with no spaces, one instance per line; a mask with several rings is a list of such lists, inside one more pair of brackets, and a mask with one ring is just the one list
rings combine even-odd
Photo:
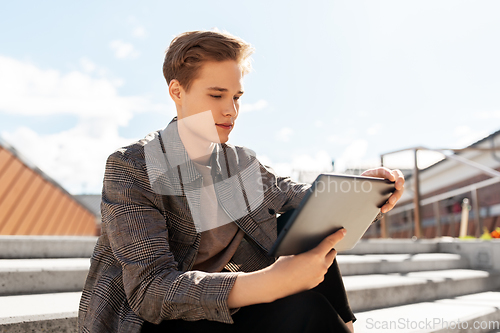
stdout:
[[73,71],[42,70],[0,56],[0,114],[24,116],[70,114],[73,128],[38,134],[27,127],[1,133],[22,155],[71,193],[98,193],[106,157],[132,139],[119,128],[142,111],[170,109],[142,96],[120,96],[119,82]]

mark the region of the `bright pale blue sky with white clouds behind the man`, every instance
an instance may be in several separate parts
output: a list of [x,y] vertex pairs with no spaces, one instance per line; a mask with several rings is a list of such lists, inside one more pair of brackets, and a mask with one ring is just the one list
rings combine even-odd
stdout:
[[497,0],[2,1],[0,138],[100,193],[107,156],[175,116],[172,38],[218,28],[255,47],[229,142],[280,174],[462,148],[500,129],[499,15]]

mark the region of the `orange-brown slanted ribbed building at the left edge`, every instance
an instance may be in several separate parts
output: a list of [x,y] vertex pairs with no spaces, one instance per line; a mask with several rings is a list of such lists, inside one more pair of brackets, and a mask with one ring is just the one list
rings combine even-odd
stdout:
[[96,235],[95,214],[0,140],[0,235]]

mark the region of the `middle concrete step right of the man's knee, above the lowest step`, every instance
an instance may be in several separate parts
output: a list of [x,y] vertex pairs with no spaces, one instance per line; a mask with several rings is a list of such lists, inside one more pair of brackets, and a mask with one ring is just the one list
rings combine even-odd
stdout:
[[353,311],[424,302],[500,288],[500,272],[441,271],[352,275],[344,285]]

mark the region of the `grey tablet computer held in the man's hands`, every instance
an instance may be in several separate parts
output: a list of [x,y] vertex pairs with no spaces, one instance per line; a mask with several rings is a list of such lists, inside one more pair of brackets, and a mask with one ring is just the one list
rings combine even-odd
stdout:
[[269,252],[277,257],[309,251],[340,228],[347,234],[335,250],[350,250],[394,191],[387,179],[320,174]]

